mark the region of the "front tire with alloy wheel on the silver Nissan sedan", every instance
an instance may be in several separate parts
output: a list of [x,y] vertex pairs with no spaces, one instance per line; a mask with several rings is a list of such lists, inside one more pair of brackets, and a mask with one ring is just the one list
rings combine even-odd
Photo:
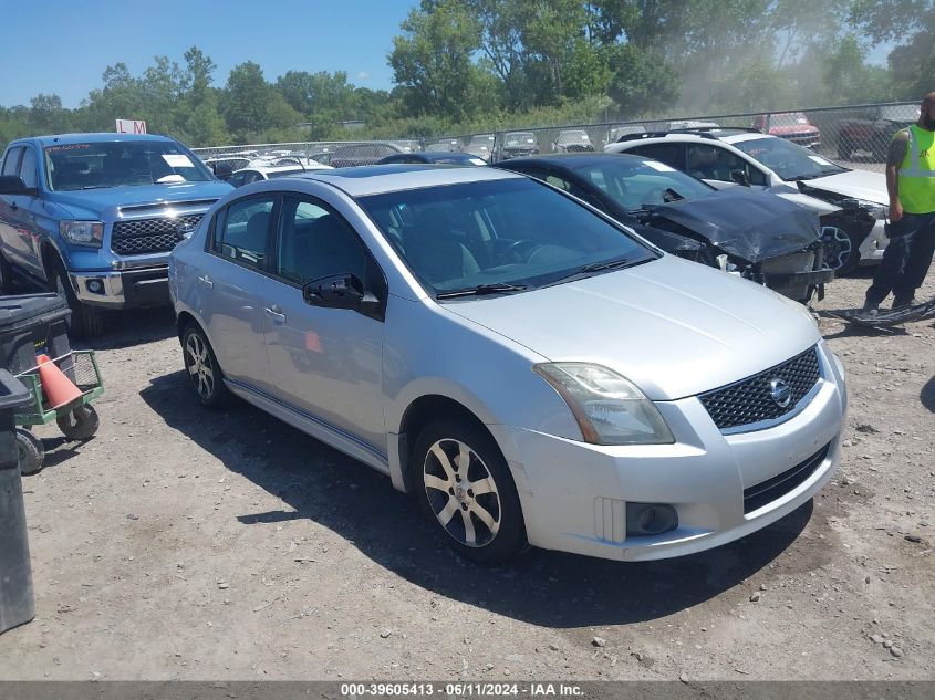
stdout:
[[412,469],[419,504],[458,554],[496,565],[523,550],[516,484],[485,429],[454,420],[430,424],[416,441]]

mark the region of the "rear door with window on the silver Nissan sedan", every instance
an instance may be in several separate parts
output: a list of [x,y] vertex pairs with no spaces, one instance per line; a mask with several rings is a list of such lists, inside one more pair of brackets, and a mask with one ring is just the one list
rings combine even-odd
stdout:
[[221,209],[207,241],[197,284],[200,311],[218,363],[228,379],[270,391],[263,341],[262,289],[279,197],[264,192]]

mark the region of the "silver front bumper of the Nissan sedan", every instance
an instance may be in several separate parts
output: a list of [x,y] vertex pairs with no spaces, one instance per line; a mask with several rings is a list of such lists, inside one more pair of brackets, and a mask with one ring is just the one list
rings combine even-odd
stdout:
[[[762,430],[724,435],[696,397],[657,404],[674,445],[603,447],[491,426],[512,452],[508,462],[530,544],[602,558],[658,560],[733,542],[788,515],[838,467],[846,410],[843,370],[823,344],[819,355],[822,378],[812,398]],[[801,466],[798,478],[782,481]],[[766,502],[752,500],[755,487],[777,481]],[[678,525],[659,535],[627,536],[627,503],[672,505]]]

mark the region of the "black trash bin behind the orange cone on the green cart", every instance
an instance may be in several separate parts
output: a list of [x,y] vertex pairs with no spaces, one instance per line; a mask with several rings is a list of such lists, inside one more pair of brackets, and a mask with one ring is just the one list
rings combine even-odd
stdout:
[[[37,351],[53,359],[67,355],[71,313],[58,294],[0,296],[0,368],[15,376],[35,367]],[[74,367],[62,372],[74,382]]]

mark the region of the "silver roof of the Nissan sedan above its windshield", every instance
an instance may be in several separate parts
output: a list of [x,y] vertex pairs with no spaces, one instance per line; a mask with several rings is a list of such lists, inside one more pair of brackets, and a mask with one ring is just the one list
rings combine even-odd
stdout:
[[404,189],[459,185],[485,180],[506,180],[521,177],[495,168],[441,168],[417,163],[364,165],[333,170],[310,170],[292,178],[315,180],[343,190],[351,197],[365,197]]

